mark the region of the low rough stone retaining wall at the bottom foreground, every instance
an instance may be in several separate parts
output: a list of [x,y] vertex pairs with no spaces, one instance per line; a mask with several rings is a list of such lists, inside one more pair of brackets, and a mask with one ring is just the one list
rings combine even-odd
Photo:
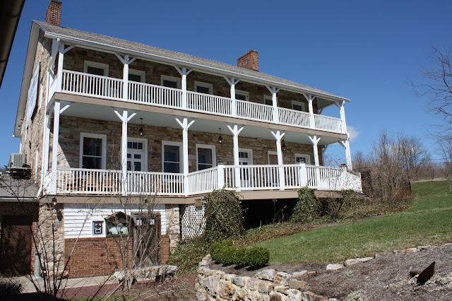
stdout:
[[210,255],[199,263],[198,300],[335,300],[302,291],[306,282],[297,279],[296,273],[266,269],[258,271],[254,278],[237,276],[209,268],[208,261]]

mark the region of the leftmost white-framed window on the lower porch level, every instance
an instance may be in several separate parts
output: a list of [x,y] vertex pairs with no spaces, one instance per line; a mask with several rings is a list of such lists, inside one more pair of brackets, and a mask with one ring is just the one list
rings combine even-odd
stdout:
[[80,134],[80,167],[105,170],[107,135]]

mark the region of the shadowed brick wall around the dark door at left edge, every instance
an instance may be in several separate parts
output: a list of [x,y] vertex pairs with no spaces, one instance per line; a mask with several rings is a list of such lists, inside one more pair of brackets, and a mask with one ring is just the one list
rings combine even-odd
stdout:
[[[0,203],[0,241],[1,241],[1,220],[3,216],[32,216],[32,233],[37,237],[37,221],[39,203],[37,202],[1,202]],[[35,244],[31,240],[31,271],[35,269]]]

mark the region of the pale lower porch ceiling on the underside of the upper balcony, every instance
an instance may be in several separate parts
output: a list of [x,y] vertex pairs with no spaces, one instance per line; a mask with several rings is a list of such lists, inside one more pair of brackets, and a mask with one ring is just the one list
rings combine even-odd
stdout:
[[[61,101],[61,107],[69,104],[68,101]],[[172,127],[173,129],[181,129],[179,124],[177,124],[172,114],[162,114],[160,112],[148,112],[148,111],[134,111],[129,110],[129,112],[136,112],[135,117],[130,120],[130,124],[141,124],[141,119],[143,118],[143,124],[151,126],[161,126],[161,127]],[[71,116],[71,117],[83,117],[88,119],[106,120],[109,122],[118,122],[119,118],[114,114],[111,107],[106,107],[105,105],[95,105],[82,102],[72,102],[71,107],[62,112],[61,116]],[[237,122],[236,122],[237,123]],[[220,120],[211,119],[196,119],[196,122],[190,127],[189,131],[204,131],[208,133],[218,134],[218,128],[221,128],[222,135],[231,135],[230,130],[227,128],[227,124],[234,124],[234,122],[222,122]],[[284,139],[285,141],[311,144],[307,134],[299,133],[297,131],[285,131]],[[182,129],[181,129],[182,135]],[[240,136],[263,138],[274,140],[275,138],[267,127],[260,126],[249,126],[246,125],[244,130],[240,133]],[[321,136],[321,141],[319,145],[327,145],[331,143],[336,143],[343,138],[331,137],[331,136]]]

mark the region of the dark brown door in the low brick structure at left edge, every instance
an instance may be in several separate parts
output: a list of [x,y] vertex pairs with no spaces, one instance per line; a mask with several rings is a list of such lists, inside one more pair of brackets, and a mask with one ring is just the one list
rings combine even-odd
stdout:
[[31,273],[31,216],[3,216],[1,220],[0,273],[3,276]]

